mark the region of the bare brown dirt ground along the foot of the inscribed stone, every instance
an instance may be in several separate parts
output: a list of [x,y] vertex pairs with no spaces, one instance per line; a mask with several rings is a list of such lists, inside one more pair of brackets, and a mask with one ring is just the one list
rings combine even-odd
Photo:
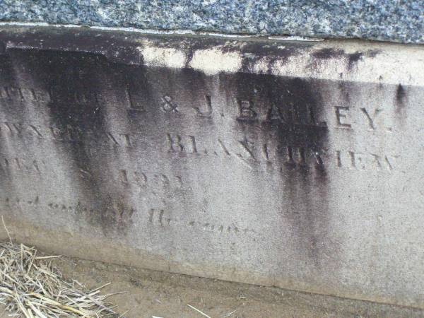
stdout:
[[[90,288],[111,282],[103,293],[125,317],[424,317],[424,311],[359,300],[299,293],[160,271],[134,269],[62,257],[57,267],[66,278]],[[8,317],[7,313],[1,317]]]

